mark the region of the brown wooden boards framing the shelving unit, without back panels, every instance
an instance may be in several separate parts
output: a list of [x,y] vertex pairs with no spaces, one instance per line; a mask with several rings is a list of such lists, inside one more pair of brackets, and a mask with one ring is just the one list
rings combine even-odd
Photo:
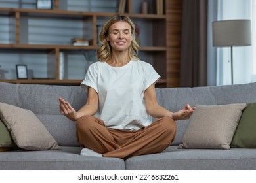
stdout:
[[[139,50],[139,57],[140,53],[142,53],[145,61],[147,58],[150,58],[150,63],[152,63],[153,67],[158,71],[161,75],[161,79],[159,80],[157,86],[166,87],[168,86],[168,78],[167,78],[167,27],[166,27],[166,14],[156,14],[154,12],[154,5],[150,5],[152,12],[148,14],[141,14],[139,12],[133,12],[133,3],[137,0],[127,0],[127,9],[123,13],[124,15],[129,16],[134,22],[146,22],[146,24],[150,24],[152,28],[150,32],[152,35],[152,43],[142,44]],[[36,8],[3,8],[0,7],[0,17],[9,18],[14,21],[14,25],[12,25],[12,32],[10,33],[9,43],[2,43],[0,42],[0,49],[1,52],[5,52],[8,50],[10,54],[23,51],[26,52],[45,52],[46,55],[52,54],[54,60],[48,60],[47,62],[52,62],[51,65],[54,65],[54,78],[49,79],[28,79],[28,80],[18,80],[15,78],[10,79],[1,79],[0,82],[11,82],[11,83],[24,83],[24,84],[80,84],[80,79],[60,79],[59,78],[59,54],[60,52],[68,52],[68,51],[76,51],[76,50],[97,50],[97,27],[98,19],[112,16],[116,14],[116,12],[81,12],[81,11],[73,11],[73,10],[60,10],[60,0],[54,0],[54,8],[52,10],[40,10]],[[165,2],[165,1],[163,1]],[[154,3],[154,1],[152,1]],[[167,3],[167,2],[165,2]],[[165,4],[163,5],[165,7]],[[163,11],[165,12],[165,10]],[[43,18],[46,20],[50,20],[51,18],[57,18],[60,20],[65,19],[74,19],[83,22],[89,29],[91,35],[84,35],[85,37],[89,37],[91,39],[91,44],[89,46],[72,46],[68,44],[31,44],[30,42],[22,41],[24,35],[22,35],[22,26],[26,26],[22,24],[22,18]],[[11,22],[11,21],[10,21]],[[11,26],[10,26],[11,27]],[[14,27],[14,28],[13,28]],[[85,31],[84,31],[85,32]],[[28,36],[28,35],[26,35]],[[1,40],[0,40],[1,41]],[[141,40],[143,42],[143,40]],[[0,65],[1,65],[1,52],[0,52]],[[14,65],[17,63],[13,63]],[[3,67],[3,65],[2,65]],[[0,68],[1,69],[1,68]],[[51,70],[51,69],[50,69]]]

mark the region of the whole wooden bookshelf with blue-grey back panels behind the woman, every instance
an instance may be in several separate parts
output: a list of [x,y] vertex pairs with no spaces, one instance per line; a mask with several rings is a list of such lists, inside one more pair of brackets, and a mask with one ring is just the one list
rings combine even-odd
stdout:
[[[66,9],[62,9],[61,3],[63,2],[67,4]],[[71,85],[81,83],[86,72],[83,70],[92,58],[89,56],[86,61],[83,61],[85,54],[87,51],[96,52],[98,49],[97,25],[101,25],[107,17],[116,14],[116,12],[75,11],[72,8],[69,9],[69,6],[72,5],[68,5],[67,2],[70,1],[54,0],[52,10],[40,10],[35,7],[26,7],[26,5],[22,8],[11,7],[11,5],[10,7],[1,7],[0,0],[0,24],[5,26],[3,31],[8,37],[7,39],[0,37],[0,58],[2,59],[0,59],[0,72],[3,69],[8,73],[5,78],[0,77],[0,82]],[[81,3],[81,1],[79,2]],[[110,0],[109,2],[113,3],[114,1]],[[129,16],[135,25],[139,25],[143,31],[143,34],[139,35],[141,42],[139,57],[151,63],[161,75],[161,80],[158,81],[157,86],[166,87],[168,86],[168,49],[165,6],[168,1],[163,1],[163,14],[157,14],[154,10],[154,0],[149,0],[149,2],[148,14],[142,14],[140,10],[136,10],[142,0],[127,0],[125,11],[121,14]],[[66,21],[68,22],[65,23]],[[85,37],[90,40],[89,46],[73,46],[70,44],[70,39],[74,37]],[[66,55],[67,67],[70,69],[66,69],[68,74],[64,79],[59,77],[60,52]],[[9,58],[11,58],[9,61],[4,60]],[[78,62],[79,64],[77,64]],[[14,66],[21,63],[31,65],[35,78],[53,79],[32,79],[29,77],[27,80],[17,80]],[[79,73],[79,75],[72,76],[71,73]]]

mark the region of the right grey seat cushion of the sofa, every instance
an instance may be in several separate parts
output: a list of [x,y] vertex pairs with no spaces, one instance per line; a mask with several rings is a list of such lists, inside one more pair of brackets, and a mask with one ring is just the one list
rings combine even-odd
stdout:
[[130,170],[252,170],[256,151],[251,148],[179,149],[169,146],[159,154],[135,156],[125,161]]

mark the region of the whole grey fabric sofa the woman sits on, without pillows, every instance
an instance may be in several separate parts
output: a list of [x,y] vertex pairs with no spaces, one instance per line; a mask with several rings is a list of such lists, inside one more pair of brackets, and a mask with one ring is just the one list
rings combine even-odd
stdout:
[[[256,83],[196,88],[156,88],[160,105],[177,111],[194,106],[256,102]],[[59,112],[58,97],[79,109],[86,93],[79,86],[9,84],[0,82],[0,102],[32,110],[62,150],[15,150],[0,152],[0,169],[256,169],[256,149],[178,148],[189,120],[177,122],[173,144],[159,154],[129,158],[96,158],[79,155],[75,122]],[[15,115],[15,114],[13,114]],[[195,134],[196,135],[196,134]]]

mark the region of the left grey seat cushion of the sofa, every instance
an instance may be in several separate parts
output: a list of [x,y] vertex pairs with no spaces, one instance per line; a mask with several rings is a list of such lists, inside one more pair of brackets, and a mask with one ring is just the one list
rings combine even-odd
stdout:
[[61,146],[62,150],[25,151],[0,153],[0,169],[7,170],[107,170],[125,169],[125,162],[119,158],[98,158],[81,156],[80,147]]

